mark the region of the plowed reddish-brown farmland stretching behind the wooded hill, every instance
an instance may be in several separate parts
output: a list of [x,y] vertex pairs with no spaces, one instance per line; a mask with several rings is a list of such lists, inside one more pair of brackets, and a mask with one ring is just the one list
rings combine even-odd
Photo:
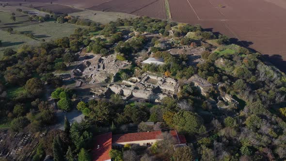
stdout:
[[[22,2],[22,0],[20,1]],[[50,0],[26,1],[50,2]],[[286,71],[285,0],[168,1],[172,20],[201,24],[202,27],[213,32],[220,32],[233,37],[242,42],[244,46],[254,48],[265,54],[271,62],[281,70]],[[164,0],[53,0],[53,4],[166,18]],[[60,8],[59,6],[54,7]],[[62,8],[62,10],[67,11],[68,9]]]

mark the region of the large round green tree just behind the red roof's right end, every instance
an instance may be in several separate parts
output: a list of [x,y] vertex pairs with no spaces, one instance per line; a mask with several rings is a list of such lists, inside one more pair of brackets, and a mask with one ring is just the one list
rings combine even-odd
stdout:
[[190,111],[180,111],[174,115],[174,126],[181,132],[200,134],[206,131],[203,119]]

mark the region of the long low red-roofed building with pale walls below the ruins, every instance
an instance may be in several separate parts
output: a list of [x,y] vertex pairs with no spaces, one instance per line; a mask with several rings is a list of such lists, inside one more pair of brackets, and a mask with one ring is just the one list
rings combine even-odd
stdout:
[[[169,133],[173,136],[175,145],[186,145],[184,135],[179,135],[176,130]],[[112,132],[95,136],[95,147],[92,151],[93,161],[111,161],[109,151],[112,147],[121,147],[127,144],[139,146],[153,145],[155,142],[163,140],[162,131],[136,132],[127,134],[112,135]]]

